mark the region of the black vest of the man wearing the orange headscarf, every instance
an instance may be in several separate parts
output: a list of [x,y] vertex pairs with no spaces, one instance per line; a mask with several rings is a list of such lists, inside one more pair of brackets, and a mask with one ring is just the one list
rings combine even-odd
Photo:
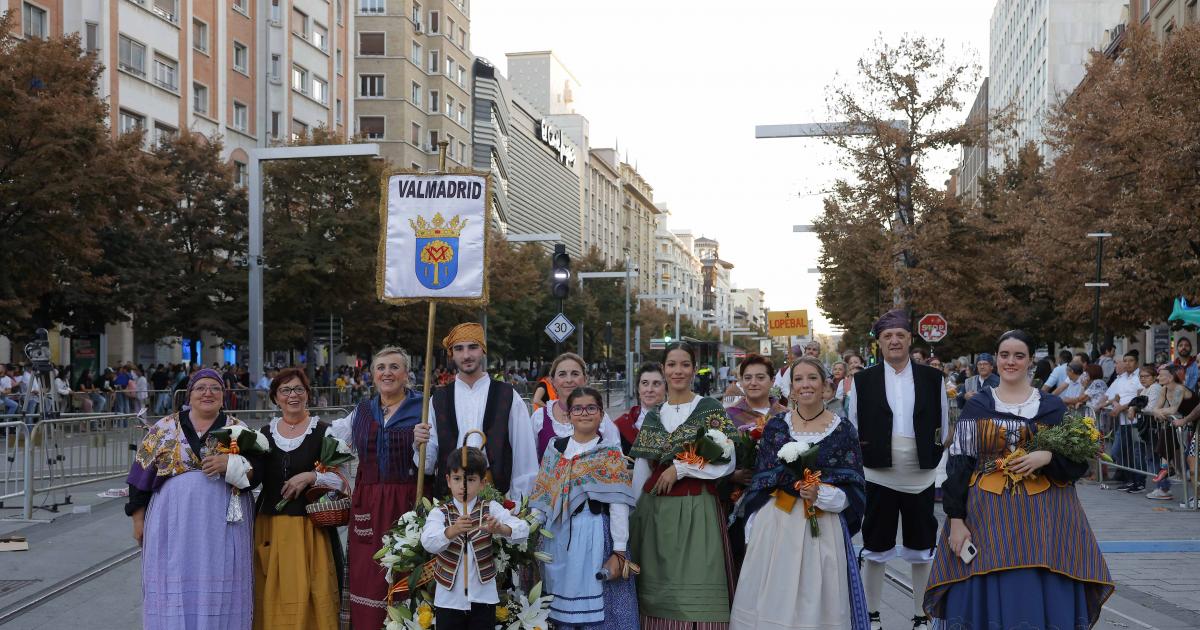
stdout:
[[[491,378],[485,376],[484,378]],[[458,444],[458,416],[454,404],[455,383],[433,390],[430,404],[437,415],[438,461],[433,466],[434,492],[437,497],[450,494],[446,487],[446,457]],[[512,481],[512,445],[509,443],[509,414],[512,410],[512,385],[503,380],[492,380],[487,389],[487,403],[484,406],[484,434],[487,444],[487,468],[492,475],[496,490],[508,494]]]

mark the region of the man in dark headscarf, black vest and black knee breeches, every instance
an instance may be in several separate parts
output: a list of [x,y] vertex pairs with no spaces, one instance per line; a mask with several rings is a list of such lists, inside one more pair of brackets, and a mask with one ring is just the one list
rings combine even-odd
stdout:
[[[926,630],[922,610],[937,540],[934,482],[949,437],[949,401],[942,373],[910,358],[908,313],[887,312],[871,328],[883,362],[854,374],[847,412],[858,428],[866,476],[863,520],[863,584],[871,629],[882,628],[880,602],[887,562],[899,556],[912,565],[914,630]],[[904,530],[896,547],[896,527]]]

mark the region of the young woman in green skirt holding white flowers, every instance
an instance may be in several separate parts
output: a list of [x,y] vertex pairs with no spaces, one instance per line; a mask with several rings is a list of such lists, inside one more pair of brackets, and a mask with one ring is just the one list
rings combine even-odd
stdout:
[[[630,449],[636,458],[634,492],[641,494],[630,518],[629,546],[642,564],[642,628],[724,629],[736,576],[716,480],[737,464],[737,430],[720,402],[691,391],[696,354],[690,344],[667,346],[662,370],[667,400],[646,415]],[[725,439],[718,443],[707,434],[710,430]],[[721,449],[715,460],[724,463],[696,454],[702,439]]]

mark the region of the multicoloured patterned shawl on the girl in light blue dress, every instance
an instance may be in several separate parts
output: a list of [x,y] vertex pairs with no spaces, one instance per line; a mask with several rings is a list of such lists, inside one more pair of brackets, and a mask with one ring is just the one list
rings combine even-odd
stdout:
[[619,446],[596,444],[571,458],[563,457],[559,446],[565,450],[564,439],[550,440],[529,494],[529,505],[541,510],[546,522],[569,518],[588,500],[630,508],[637,503],[634,476]]

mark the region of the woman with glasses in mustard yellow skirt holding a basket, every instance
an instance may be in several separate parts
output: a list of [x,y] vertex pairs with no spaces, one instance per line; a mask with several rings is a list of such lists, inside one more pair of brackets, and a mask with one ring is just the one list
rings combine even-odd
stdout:
[[342,544],[336,528],[308,520],[305,505],[308,488],[343,488],[344,478],[317,472],[329,425],[308,415],[308,376],[281,370],[268,391],[282,415],[264,431],[270,451],[254,505],[254,628],[336,630]]

